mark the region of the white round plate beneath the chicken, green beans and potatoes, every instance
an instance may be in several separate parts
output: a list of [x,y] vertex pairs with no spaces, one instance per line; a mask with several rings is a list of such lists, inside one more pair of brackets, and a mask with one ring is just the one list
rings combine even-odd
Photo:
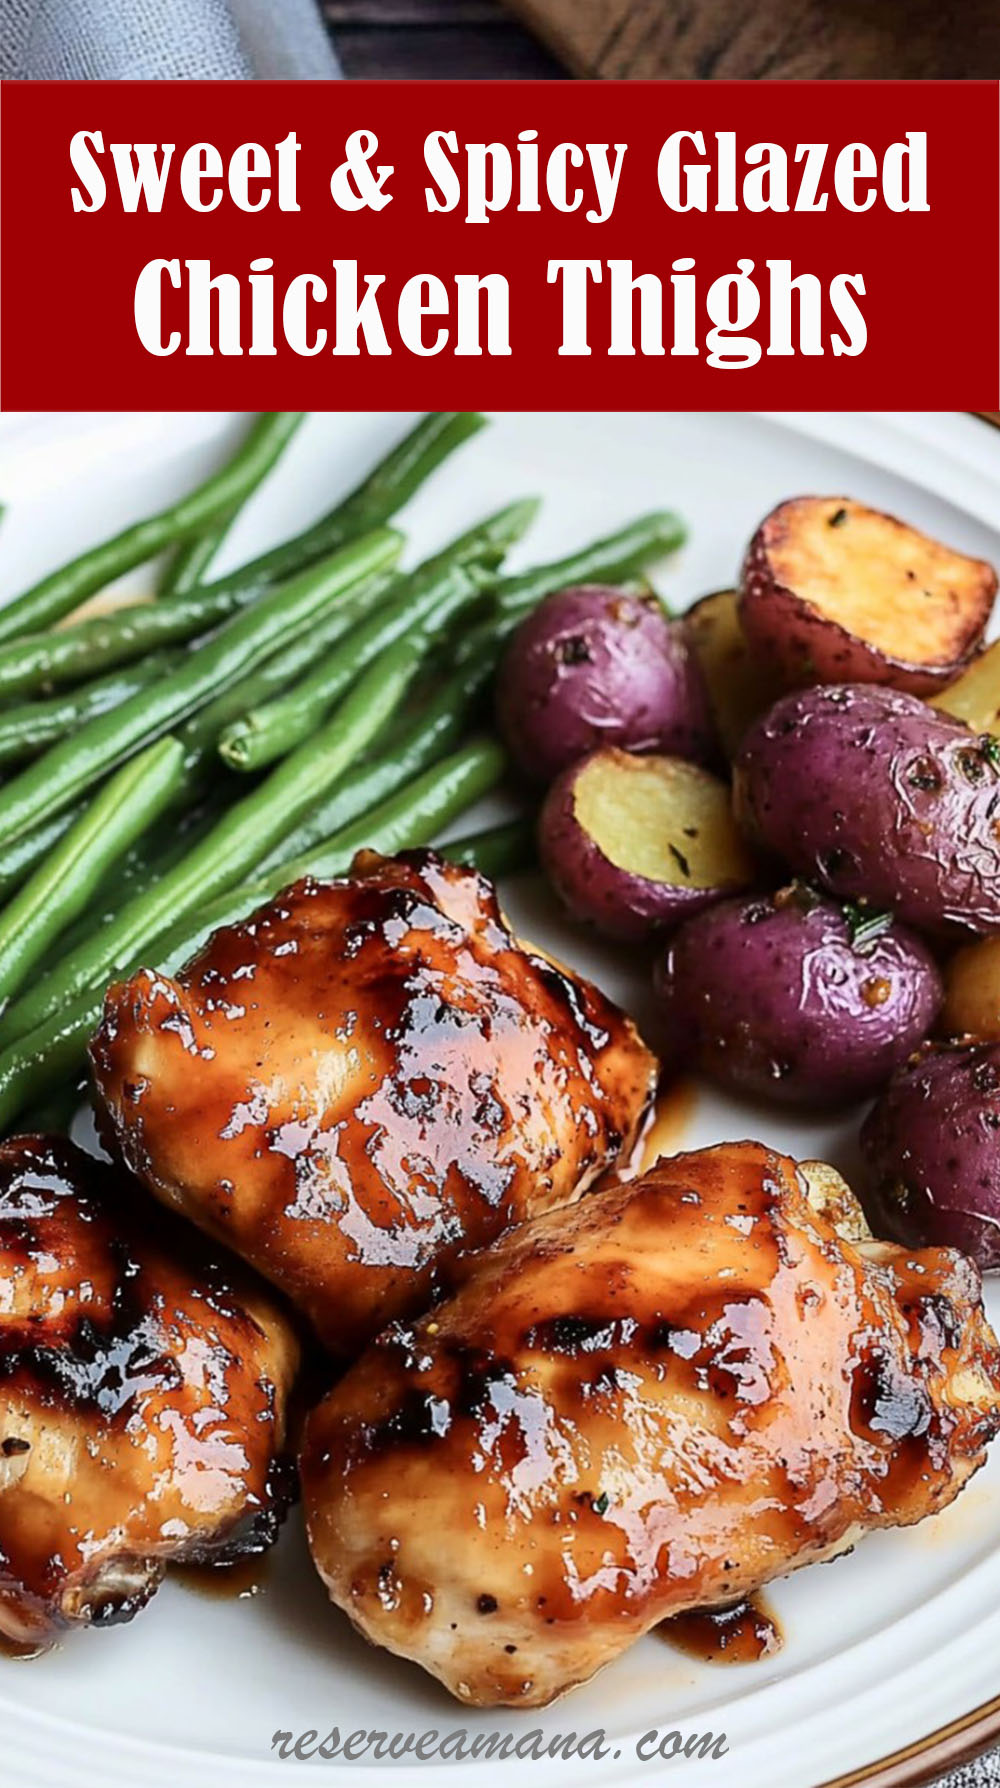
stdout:
[[[311,418],[227,552],[243,556],[327,506],[408,422]],[[181,492],[236,431],[238,418],[211,415],[5,417],[5,592]],[[803,490],[846,492],[1000,560],[1000,433],[957,415],[504,415],[436,474],[404,524],[422,554],[478,513],[540,492],[542,517],[512,556],[526,563],[673,504],[691,522],[691,544],[662,586],[685,604],[732,581],[760,515]],[[646,991],[628,949],[599,948],[567,926],[531,881],[504,899],[538,944],[642,1014]],[[701,1092],[683,1146],[758,1135],[850,1162],[855,1130],[857,1116],[800,1123]],[[996,1291],[989,1302],[1000,1318]],[[551,1740],[603,1727],[603,1761],[465,1761],[449,1765],[447,1779],[463,1788],[517,1770],[524,1788],[658,1781],[667,1765],[637,1761],[637,1738],[680,1729],[725,1733],[728,1743],[721,1759],[669,1765],[691,1788],[816,1788],[923,1740],[1000,1688],[1000,1448],[945,1514],[805,1570],[771,1600],[785,1647],[766,1663],[699,1666],[648,1638],[556,1709],[470,1713],[415,1666],[365,1647],[327,1607],[293,1518],[252,1600],[211,1600],[166,1582],[127,1627],[81,1634],[30,1663],[0,1659],[0,1781],[270,1784],[292,1768],[270,1752],[277,1731],[540,1729]],[[336,1779],[363,1772],[370,1784],[415,1770],[426,1779],[428,1768],[411,1758],[326,1763]]]

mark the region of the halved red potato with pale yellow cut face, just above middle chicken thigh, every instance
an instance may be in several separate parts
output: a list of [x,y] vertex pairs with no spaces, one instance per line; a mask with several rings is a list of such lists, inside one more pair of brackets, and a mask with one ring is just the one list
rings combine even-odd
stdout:
[[538,851],[569,910],[608,937],[667,930],[753,881],[726,783],[683,758],[614,747],[556,778]]

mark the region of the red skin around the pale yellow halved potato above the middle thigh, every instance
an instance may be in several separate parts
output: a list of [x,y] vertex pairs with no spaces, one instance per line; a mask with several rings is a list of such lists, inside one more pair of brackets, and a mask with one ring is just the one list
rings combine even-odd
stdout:
[[[556,776],[538,815],[538,858],[547,880],[574,919],[594,924],[605,937],[639,942],[680,924],[682,919],[725,899],[726,894],[748,887],[753,880],[753,865],[746,856],[744,873],[737,880],[717,887],[687,887],[655,881],[623,869],[605,856],[597,840],[578,817],[576,783],[596,760],[623,758],[628,762],[628,756],[630,753],[615,747],[601,753],[592,751],[580,763],[571,763],[562,776]],[[741,840],[735,828],[732,830],[739,848]]]

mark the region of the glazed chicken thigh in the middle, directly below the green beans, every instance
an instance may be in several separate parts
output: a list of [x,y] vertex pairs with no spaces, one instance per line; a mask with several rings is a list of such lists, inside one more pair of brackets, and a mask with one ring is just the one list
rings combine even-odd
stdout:
[[91,1057],[129,1168],[343,1354],[628,1153],[655,1085],[630,1021],[429,853],[299,881],[177,980],[113,987]]

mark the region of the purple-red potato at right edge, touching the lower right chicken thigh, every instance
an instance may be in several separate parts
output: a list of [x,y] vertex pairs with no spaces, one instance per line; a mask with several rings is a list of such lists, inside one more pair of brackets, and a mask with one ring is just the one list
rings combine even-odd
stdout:
[[860,1130],[877,1236],[1000,1266],[1000,1044],[927,1044]]

